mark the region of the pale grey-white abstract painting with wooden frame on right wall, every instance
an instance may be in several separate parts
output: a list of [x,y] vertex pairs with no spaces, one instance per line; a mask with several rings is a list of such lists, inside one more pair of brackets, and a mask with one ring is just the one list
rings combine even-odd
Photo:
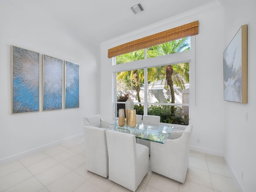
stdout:
[[224,100],[247,103],[247,25],[223,52]]

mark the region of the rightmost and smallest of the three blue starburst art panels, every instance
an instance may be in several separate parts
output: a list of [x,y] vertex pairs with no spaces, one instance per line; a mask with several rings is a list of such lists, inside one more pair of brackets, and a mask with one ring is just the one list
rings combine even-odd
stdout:
[[65,61],[65,109],[79,108],[80,65]]

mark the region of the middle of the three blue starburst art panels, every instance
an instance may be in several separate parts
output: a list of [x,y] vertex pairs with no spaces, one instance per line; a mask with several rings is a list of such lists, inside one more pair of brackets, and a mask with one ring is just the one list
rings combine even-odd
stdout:
[[43,55],[43,111],[62,109],[63,60]]

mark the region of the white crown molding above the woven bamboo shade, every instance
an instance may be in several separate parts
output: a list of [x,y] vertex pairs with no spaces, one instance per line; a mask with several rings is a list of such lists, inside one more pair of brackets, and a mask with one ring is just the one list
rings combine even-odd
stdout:
[[160,22],[151,24],[149,26],[140,28],[138,30],[134,30],[132,32],[126,33],[122,36],[118,36],[116,38],[110,39],[108,41],[102,42],[100,46],[117,46],[120,44],[124,44],[126,42],[130,42],[132,40],[136,40],[139,38],[143,38],[152,34],[156,34],[158,32],[162,32],[168,30],[170,28],[175,28],[177,26],[186,24],[188,22],[193,22],[196,17],[202,14],[206,14],[207,12],[214,11],[216,9],[222,8],[222,4],[219,0],[208,3],[204,6],[200,6],[198,8],[189,10],[182,14],[178,14],[176,16],[167,18]]

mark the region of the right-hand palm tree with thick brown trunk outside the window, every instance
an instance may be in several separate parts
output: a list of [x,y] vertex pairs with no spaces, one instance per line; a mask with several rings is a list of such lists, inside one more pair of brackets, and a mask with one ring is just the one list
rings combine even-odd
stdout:
[[[185,50],[189,50],[190,47],[188,42],[188,37],[182,38],[180,40],[167,42],[164,44],[160,44],[157,46],[152,46],[148,48],[148,58],[162,56],[172,53],[177,53]],[[163,74],[163,68],[160,67],[158,73]],[[175,92],[173,85],[184,89],[185,82],[189,82],[189,64],[188,63],[181,63],[175,65],[167,65],[164,68],[166,83],[170,88],[171,92],[171,103],[175,103]],[[174,116],[174,106],[171,106],[171,115]]]

